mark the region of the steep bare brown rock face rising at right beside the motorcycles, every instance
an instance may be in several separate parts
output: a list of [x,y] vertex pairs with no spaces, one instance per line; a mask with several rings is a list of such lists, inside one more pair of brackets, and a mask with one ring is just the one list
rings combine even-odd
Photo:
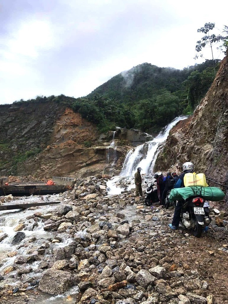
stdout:
[[[228,52],[228,51],[227,51]],[[228,53],[205,98],[191,117],[169,133],[155,170],[176,170],[178,161],[192,161],[196,172],[226,181],[228,162]],[[211,185],[213,185],[211,183]]]

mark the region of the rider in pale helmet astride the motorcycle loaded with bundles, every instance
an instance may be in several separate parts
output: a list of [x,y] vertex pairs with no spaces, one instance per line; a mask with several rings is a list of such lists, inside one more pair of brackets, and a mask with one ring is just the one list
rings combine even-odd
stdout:
[[[174,185],[174,188],[183,188],[184,185],[184,176],[186,173],[193,173],[194,171],[194,164],[192,164],[190,161],[183,164],[183,173],[179,176],[178,181]],[[177,229],[180,223],[180,217],[181,217],[181,209],[182,209],[183,200],[179,200],[176,204],[173,220],[172,223],[169,224],[169,227],[173,230]]]

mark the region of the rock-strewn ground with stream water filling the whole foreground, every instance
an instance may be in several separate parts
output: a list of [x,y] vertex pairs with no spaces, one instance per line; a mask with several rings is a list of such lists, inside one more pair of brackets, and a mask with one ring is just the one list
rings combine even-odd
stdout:
[[1,213],[0,302],[227,304],[228,214],[212,209],[197,239],[170,230],[173,210],[143,206],[127,185],[107,196],[109,178],[13,199],[61,204]]

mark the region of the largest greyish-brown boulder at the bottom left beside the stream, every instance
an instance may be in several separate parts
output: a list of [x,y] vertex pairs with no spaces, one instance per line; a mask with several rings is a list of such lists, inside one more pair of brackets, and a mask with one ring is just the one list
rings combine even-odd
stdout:
[[51,295],[65,292],[73,285],[71,273],[62,270],[46,270],[39,282],[39,289]]

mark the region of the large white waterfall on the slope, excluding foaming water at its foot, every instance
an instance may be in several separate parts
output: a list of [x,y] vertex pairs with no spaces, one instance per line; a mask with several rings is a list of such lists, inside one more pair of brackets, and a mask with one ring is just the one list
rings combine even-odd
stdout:
[[153,140],[136,147],[134,152],[133,150],[128,151],[120,175],[132,176],[134,175],[137,167],[141,167],[143,169],[143,173],[151,173],[160,150],[158,149],[159,144],[163,143],[167,139],[169,131],[176,123],[178,123],[178,121],[186,119],[187,117],[188,116],[176,117]]

